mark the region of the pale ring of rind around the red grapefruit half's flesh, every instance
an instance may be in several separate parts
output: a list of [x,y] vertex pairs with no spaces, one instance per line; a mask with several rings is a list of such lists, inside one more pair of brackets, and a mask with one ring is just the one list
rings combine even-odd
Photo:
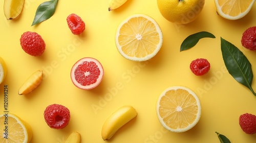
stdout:
[[[82,62],[84,62],[84,61],[89,61],[89,62],[92,61],[92,62],[96,63],[96,65],[98,66],[98,68],[99,68],[99,70],[100,70],[100,75],[99,75],[97,81],[96,81],[95,83],[93,83],[93,84],[86,85],[86,86],[83,86],[83,85],[81,85],[80,83],[78,83],[78,82],[76,81],[76,79],[75,79],[75,74],[74,74],[74,73],[75,73],[75,70],[76,70],[76,67],[77,67],[78,65],[80,65],[80,64],[81,64]],[[73,67],[72,67],[72,69],[71,69],[71,81],[73,82],[73,84],[74,84],[77,88],[80,88],[80,89],[83,89],[83,90],[90,90],[90,89],[93,89],[93,88],[97,87],[97,86],[101,83],[102,78],[103,78],[103,75],[104,75],[103,66],[101,65],[101,63],[100,63],[98,60],[96,60],[95,58],[91,58],[91,57],[85,57],[85,58],[82,58],[82,59],[78,60],[78,61],[73,65]]]

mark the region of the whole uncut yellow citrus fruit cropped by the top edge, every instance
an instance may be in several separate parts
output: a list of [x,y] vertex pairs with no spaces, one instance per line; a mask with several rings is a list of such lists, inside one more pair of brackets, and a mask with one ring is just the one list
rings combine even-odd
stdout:
[[157,0],[160,13],[165,19],[178,24],[194,21],[204,7],[204,0]]

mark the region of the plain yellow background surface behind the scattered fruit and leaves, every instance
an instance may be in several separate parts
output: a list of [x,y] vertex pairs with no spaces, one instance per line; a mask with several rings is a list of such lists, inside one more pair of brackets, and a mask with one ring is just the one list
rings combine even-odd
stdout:
[[[4,112],[4,85],[9,89],[9,112],[28,122],[33,130],[32,143],[63,142],[77,131],[82,142],[220,142],[216,131],[231,142],[255,142],[255,135],[245,134],[239,126],[243,113],[256,114],[256,97],[227,72],[221,54],[220,37],[236,45],[252,64],[256,73],[255,52],[241,45],[242,33],[256,26],[256,6],[242,19],[227,20],[217,15],[214,1],[206,0],[199,17],[187,25],[176,25],[164,19],[156,0],[129,0],[115,11],[108,11],[109,0],[59,1],[54,15],[32,26],[35,11],[45,1],[25,0],[18,19],[6,20],[3,1],[0,4],[0,56],[8,68],[6,80],[0,86],[0,113]],[[76,13],[86,23],[86,30],[73,35],[66,18]],[[159,53],[147,62],[124,59],[115,46],[119,23],[135,13],[153,17],[163,32]],[[26,54],[20,36],[37,32],[46,42],[40,57]],[[180,44],[190,34],[207,31],[215,39],[204,38],[187,51]],[[92,90],[76,88],[70,79],[73,64],[83,58],[98,59],[104,68],[100,85]],[[211,64],[207,75],[197,77],[189,64],[196,58],[206,58]],[[19,96],[18,88],[37,69],[44,70],[44,80],[32,93]],[[172,133],[158,122],[155,104],[167,87],[183,85],[193,89],[202,104],[199,123],[184,133]],[[252,88],[256,90],[253,80]],[[2,99],[2,100],[1,100]],[[50,104],[70,109],[71,120],[65,129],[55,130],[44,121],[44,110]],[[105,119],[123,105],[132,105],[138,116],[121,128],[109,141],[101,138]]]

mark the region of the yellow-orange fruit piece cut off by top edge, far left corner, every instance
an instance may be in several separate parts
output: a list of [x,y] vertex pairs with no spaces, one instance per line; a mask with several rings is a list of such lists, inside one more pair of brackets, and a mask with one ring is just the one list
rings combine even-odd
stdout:
[[5,17],[9,19],[15,19],[20,13],[24,6],[25,0],[5,0],[4,1],[4,13]]

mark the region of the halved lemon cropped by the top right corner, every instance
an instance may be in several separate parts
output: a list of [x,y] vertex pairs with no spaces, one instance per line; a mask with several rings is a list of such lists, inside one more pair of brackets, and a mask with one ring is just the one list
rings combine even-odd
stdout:
[[244,17],[255,0],[214,0],[217,12],[226,19],[236,20]]

